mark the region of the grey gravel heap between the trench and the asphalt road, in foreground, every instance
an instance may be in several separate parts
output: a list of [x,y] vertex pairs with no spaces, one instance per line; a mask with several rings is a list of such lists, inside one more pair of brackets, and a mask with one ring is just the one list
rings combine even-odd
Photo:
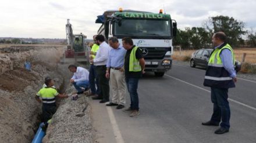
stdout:
[[52,124],[48,126],[43,142],[94,142],[91,108],[87,99],[81,94],[77,100],[72,100],[72,96],[63,100],[52,118]]

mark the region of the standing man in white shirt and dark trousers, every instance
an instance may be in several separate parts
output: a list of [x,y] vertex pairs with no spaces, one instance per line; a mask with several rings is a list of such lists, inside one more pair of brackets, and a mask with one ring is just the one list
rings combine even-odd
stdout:
[[100,103],[105,103],[109,101],[109,83],[108,78],[106,78],[106,62],[108,61],[108,54],[111,47],[105,42],[105,37],[103,35],[96,36],[97,45],[99,45],[99,50],[96,57],[90,60],[96,66],[96,72],[99,79],[99,89],[100,94],[98,97],[93,97],[94,100],[101,100]]

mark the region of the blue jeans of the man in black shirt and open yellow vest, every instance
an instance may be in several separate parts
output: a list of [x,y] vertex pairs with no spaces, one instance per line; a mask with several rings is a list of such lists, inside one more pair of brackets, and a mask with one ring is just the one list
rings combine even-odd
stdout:
[[130,108],[133,110],[139,109],[138,107],[138,93],[137,93],[137,88],[138,88],[138,79],[139,78],[125,78],[126,80],[126,86],[127,89],[130,93]]

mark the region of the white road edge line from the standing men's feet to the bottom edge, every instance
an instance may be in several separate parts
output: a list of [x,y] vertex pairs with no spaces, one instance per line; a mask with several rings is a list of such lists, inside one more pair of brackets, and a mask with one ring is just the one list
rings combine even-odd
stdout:
[[111,107],[106,107],[106,110],[108,111],[108,116],[109,116],[110,122],[112,124],[112,129],[114,131],[116,143],[125,143],[125,141],[123,141],[123,137],[122,137],[122,134],[119,130],[118,124],[116,123],[116,118],[114,116],[112,108]]

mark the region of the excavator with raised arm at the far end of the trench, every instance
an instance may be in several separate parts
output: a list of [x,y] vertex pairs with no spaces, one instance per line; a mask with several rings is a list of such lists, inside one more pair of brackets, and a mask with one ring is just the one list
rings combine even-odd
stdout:
[[65,48],[65,59],[71,58],[75,62],[87,62],[89,61],[88,48],[85,44],[87,36],[80,34],[73,34],[72,24],[67,19],[66,24],[66,40],[67,46]]

